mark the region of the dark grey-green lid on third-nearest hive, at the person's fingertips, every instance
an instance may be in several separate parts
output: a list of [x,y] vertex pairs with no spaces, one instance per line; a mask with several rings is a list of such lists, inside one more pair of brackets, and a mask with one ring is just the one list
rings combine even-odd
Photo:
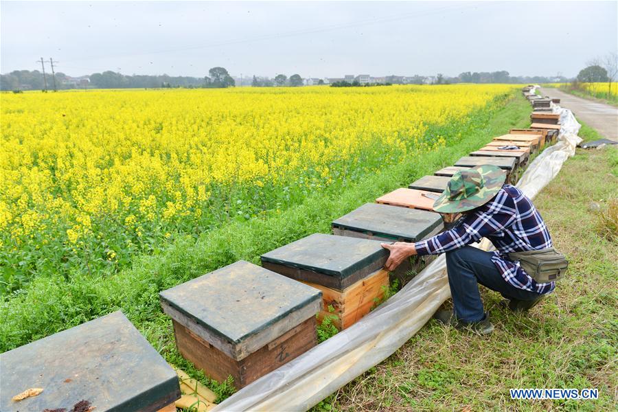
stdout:
[[341,280],[356,277],[367,267],[382,267],[389,252],[380,243],[378,240],[314,233],[262,255],[262,263],[306,269]]

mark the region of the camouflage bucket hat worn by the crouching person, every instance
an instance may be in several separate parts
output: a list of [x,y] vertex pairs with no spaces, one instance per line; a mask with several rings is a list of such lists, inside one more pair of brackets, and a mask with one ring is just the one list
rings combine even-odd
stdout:
[[505,179],[505,172],[492,165],[460,170],[448,181],[446,190],[433,203],[433,209],[440,213],[457,213],[484,205],[496,196]]

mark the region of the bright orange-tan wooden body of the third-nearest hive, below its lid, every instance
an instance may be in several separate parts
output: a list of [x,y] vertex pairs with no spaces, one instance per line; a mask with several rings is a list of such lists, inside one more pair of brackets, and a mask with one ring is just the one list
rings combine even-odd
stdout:
[[[308,283],[308,285],[322,291],[323,309],[319,313],[319,321],[325,316],[334,315],[337,319],[332,320],[333,325],[343,330],[369,313],[376,299],[382,299],[389,286],[389,273],[381,269],[343,291],[318,284]],[[334,309],[333,312],[330,312],[329,306]]]

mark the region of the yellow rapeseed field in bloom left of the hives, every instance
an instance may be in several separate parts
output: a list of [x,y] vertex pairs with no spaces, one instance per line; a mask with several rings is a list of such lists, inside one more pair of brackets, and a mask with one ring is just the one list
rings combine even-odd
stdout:
[[435,150],[510,85],[2,93],[0,290]]

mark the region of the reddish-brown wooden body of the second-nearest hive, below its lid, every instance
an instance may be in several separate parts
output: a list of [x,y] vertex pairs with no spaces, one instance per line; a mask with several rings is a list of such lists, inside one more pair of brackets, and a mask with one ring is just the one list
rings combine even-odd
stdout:
[[280,336],[281,339],[277,339],[274,345],[267,343],[249,356],[236,361],[216,347],[203,346],[180,323],[172,323],[179,352],[214,380],[222,382],[227,376],[232,376],[234,386],[238,389],[292,361],[317,344],[316,318],[312,316],[293,328],[295,334]]

